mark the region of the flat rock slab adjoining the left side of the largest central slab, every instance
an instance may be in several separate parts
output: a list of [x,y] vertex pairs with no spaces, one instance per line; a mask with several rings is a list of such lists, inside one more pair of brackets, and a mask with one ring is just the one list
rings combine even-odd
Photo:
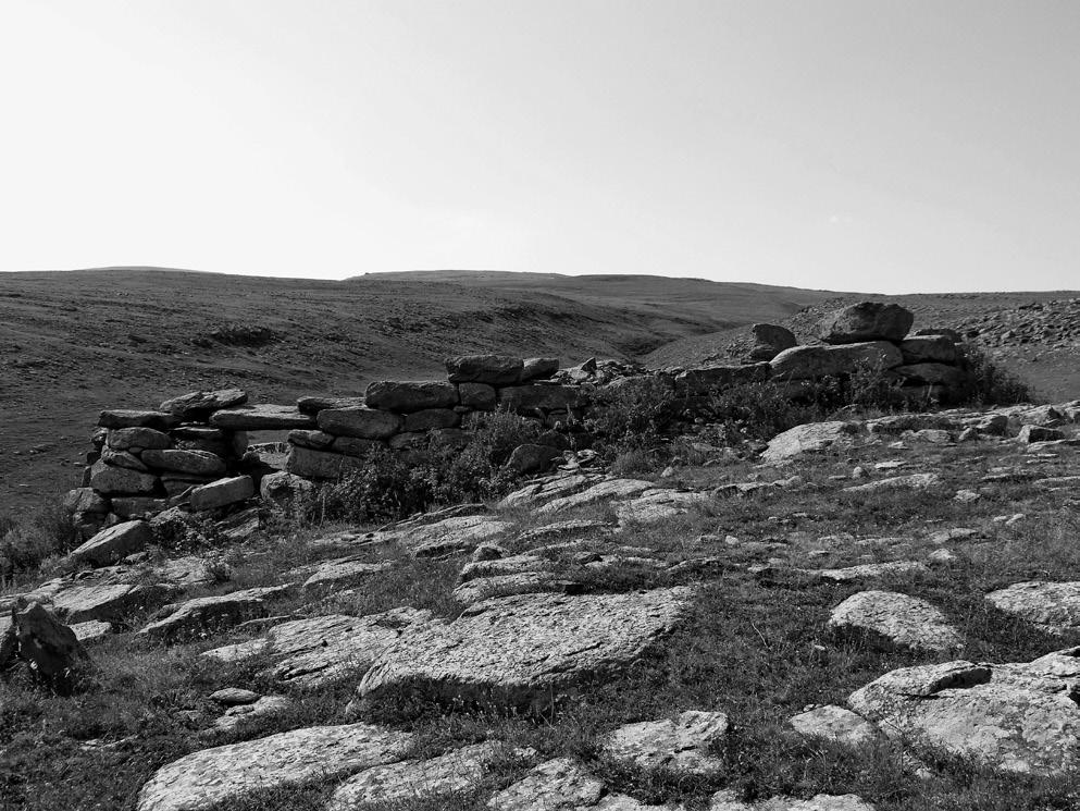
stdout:
[[264,638],[215,648],[202,655],[221,662],[266,655],[274,662],[270,673],[278,681],[322,687],[362,675],[402,632],[430,622],[430,612],[415,609],[364,617],[331,614],[282,623]]

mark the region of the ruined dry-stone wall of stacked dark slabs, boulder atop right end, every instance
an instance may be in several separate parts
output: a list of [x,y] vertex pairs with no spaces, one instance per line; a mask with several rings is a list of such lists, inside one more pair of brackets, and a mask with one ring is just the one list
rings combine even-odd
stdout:
[[[83,487],[66,499],[80,536],[151,516],[174,506],[201,512],[260,494],[310,490],[360,469],[374,448],[420,454],[434,438],[461,446],[474,417],[505,409],[545,429],[520,472],[541,472],[561,453],[587,447],[584,425],[596,395],[659,381],[692,421],[717,391],[744,382],[774,381],[792,397],[815,381],[871,369],[901,384],[913,403],[946,402],[966,383],[958,335],[921,330],[894,304],[862,303],[822,319],[821,343],[798,346],[782,327],[755,324],[745,363],[650,371],[591,359],[559,369],[555,358],[467,355],[446,360],[442,381],[375,381],[363,397],[301,397],[295,405],[249,405],[240,390],[194,392],[152,410],[105,410],[94,434]],[[929,334],[923,334],[929,333]],[[268,464],[248,445],[250,431],[288,430],[284,465]],[[538,459],[538,463],[536,462]]]

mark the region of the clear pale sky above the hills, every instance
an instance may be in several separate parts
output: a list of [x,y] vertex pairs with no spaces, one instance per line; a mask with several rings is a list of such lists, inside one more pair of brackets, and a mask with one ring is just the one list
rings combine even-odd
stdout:
[[1080,287],[1077,0],[2,0],[0,103],[0,270]]

